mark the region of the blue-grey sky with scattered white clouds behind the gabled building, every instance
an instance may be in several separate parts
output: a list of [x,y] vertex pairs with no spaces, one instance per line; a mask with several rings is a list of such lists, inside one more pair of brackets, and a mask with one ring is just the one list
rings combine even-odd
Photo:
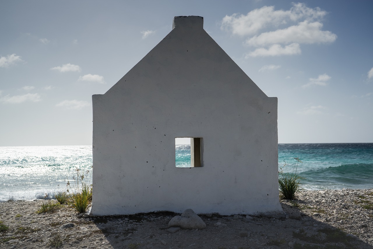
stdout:
[[0,9],[0,146],[92,144],[92,95],[188,15],[203,16],[278,97],[279,143],[373,142],[371,0],[0,0]]

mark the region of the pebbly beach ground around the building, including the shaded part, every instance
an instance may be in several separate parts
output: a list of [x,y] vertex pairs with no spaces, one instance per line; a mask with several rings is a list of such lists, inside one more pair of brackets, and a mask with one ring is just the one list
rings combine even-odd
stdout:
[[42,202],[0,203],[1,224],[9,227],[0,231],[1,248],[373,249],[373,189],[304,190],[298,200],[280,200],[286,218],[205,214],[205,229],[176,233],[167,231],[176,215],[170,212],[82,218],[63,206],[37,214]]

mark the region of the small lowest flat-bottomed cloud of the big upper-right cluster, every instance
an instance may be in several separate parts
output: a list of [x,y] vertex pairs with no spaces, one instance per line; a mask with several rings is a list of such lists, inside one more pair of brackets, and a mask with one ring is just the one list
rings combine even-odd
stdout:
[[245,59],[248,57],[257,57],[257,56],[279,56],[279,55],[300,55],[301,49],[298,43],[292,43],[285,47],[282,47],[280,44],[273,44],[268,49],[264,47],[258,48],[253,52],[248,53],[245,56]]

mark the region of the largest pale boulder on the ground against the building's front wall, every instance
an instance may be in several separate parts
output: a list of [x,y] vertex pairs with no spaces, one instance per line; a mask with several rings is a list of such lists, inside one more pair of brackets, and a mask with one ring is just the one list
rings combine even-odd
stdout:
[[186,209],[181,216],[176,215],[168,223],[168,227],[181,227],[183,229],[203,229],[206,223],[203,222],[192,209]]

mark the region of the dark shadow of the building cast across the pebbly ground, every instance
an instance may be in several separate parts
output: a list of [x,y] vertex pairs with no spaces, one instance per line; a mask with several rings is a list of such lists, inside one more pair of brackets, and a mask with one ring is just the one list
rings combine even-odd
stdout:
[[[293,218],[274,219],[270,217],[253,217],[246,220],[235,220],[232,216],[200,215],[206,222],[204,230],[182,230],[175,234],[167,232],[168,221],[175,215],[171,212],[157,212],[117,217],[95,217],[94,224],[104,234],[113,248],[216,248],[209,247],[212,240],[221,241],[220,248],[289,248],[294,249],[373,249],[369,242],[359,239],[354,234],[339,229],[330,222],[322,222],[307,215],[301,208],[290,203],[281,203],[287,215]],[[226,224],[217,228],[216,222]],[[241,230],[248,231],[246,238],[240,237]],[[258,231],[262,232],[258,232]],[[263,232],[265,231],[265,232]],[[270,238],[267,233],[278,236]],[[204,240],[208,236],[209,240]],[[230,237],[229,241],[226,239]],[[185,239],[190,238],[190,239]],[[250,241],[253,244],[250,244]],[[260,241],[257,247],[254,242]],[[264,243],[263,243],[264,241]],[[291,242],[292,244],[289,244]]]

